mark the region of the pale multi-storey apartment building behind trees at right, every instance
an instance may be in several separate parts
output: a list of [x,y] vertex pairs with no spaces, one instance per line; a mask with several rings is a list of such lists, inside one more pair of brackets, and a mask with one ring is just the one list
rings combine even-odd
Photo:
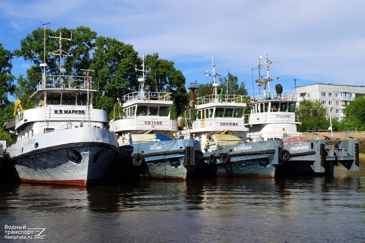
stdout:
[[295,88],[295,95],[298,101],[303,100],[303,98],[320,100],[322,105],[328,109],[331,117],[335,117],[337,121],[345,119],[346,116],[343,114],[345,105],[348,105],[351,100],[364,94],[365,87],[362,85],[354,86],[317,83]]

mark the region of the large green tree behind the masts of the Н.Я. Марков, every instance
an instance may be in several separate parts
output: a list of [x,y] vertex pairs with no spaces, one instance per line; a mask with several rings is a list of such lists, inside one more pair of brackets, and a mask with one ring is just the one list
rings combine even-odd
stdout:
[[[59,54],[59,38],[49,38],[59,37],[60,32],[62,38],[71,38],[71,40],[62,40],[62,50],[67,54],[73,55],[72,57],[67,57],[64,59],[62,66],[66,69],[66,72],[71,75],[84,75],[81,69],[90,69],[90,55],[93,50],[93,41],[96,38],[96,32],[91,31],[88,27],[77,27],[76,29],[59,28],[53,31],[49,28],[45,30],[43,28],[38,28],[28,34],[26,38],[20,41],[20,49],[14,50],[14,55],[23,57],[24,60],[30,61],[34,64],[27,70],[27,77],[24,79],[18,79],[18,82],[24,84],[24,80],[27,83],[27,88],[19,91],[22,93],[22,102],[25,103],[26,100],[36,89],[37,84],[42,79],[42,69],[39,64],[45,62],[47,64],[46,73],[47,74],[58,74],[59,73],[59,55],[49,54]],[[46,34],[45,34],[46,33]],[[46,36],[46,43],[45,43]],[[46,54],[44,47],[46,46]],[[64,52],[62,52],[65,54]],[[44,55],[45,54],[45,55]],[[44,60],[45,59],[45,60]],[[18,93],[19,94],[19,93]],[[24,107],[23,107],[24,108]]]

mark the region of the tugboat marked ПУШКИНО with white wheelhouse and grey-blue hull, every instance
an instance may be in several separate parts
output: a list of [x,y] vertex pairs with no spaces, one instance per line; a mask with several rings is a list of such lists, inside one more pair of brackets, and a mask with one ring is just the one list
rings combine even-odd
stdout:
[[358,140],[319,140],[315,137],[307,140],[297,132],[297,125],[300,124],[295,116],[297,101],[293,94],[283,95],[280,84],[276,85],[276,93],[270,93],[270,82],[278,79],[269,76],[270,64],[266,54],[265,61],[262,57],[261,62],[258,60],[259,77],[260,69],[263,66],[266,68],[266,77],[261,76],[256,80],[262,84],[264,94],[251,97],[251,114],[245,119],[248,121],[245,125],[250,129],[248,138],[251,141],[284,142],[276,175],[332,175],[338,162],[350,171],[358,171]]

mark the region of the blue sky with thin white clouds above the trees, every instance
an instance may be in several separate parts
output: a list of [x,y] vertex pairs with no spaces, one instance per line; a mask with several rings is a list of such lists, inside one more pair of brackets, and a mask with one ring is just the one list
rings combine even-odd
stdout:
[[[127,44],[142,57],[158,52],[191,81],[212,82],[205,71],[228,71],[258,95],[257,59],[272,60],[270,77],[283,93],[312,83],[364,85],[363,0],[0,0],[0,43],[7,50],[42,23],[87,26]],[[23,59],[12,74],[26,74]],[[355,75],[355,76],[354,76]],[[354,78],[356,77],[356,78]],[[296,82],[294,81],[296,79]],[[274,91],[274,90],[272,90]],[[261,91],[262,94],[262,91]]]

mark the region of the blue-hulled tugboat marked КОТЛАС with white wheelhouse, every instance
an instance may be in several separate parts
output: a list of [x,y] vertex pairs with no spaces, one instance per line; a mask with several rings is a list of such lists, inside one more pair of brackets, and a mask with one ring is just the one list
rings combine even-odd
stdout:
[[171,93],[152,92],[145,83],[144,54],[142,67],[136,66],[136,71],[142,71],[138,91],[123,96],[122,119],[110,121],[120,154],[105,177],[185,180],[207,176],[209,166],[202,160],[200,142],[176,136],[177,121],[170,119]]

